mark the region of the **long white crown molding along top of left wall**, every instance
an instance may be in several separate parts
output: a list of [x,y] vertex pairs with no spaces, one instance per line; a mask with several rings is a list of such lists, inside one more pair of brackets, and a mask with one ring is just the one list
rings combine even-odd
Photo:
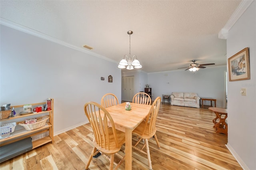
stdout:
[[33,36],[36,36],[36,37],[39,37],[39,38],[42,38],[44,40],[48,40],[50,42],[54,42],[54,43],[57,43],[57,44],[60,44],[60,45],[64,45],[66,47],[69,47],[69,48],[72,48],[72,49],[75,49],[75,50],[78,50],[78,51],[81,51],[83,53],[87,53],[87,54],[90,54],[90,55],[93,55],[95,57],[99,57],[99,58],[102,58],[102,59],[105,59],[107,61],[110,61],[112,63],[117,63],[116,61],[112,60],[112,59],[109,59],[107,57],[104,57],[102,55],[99,55],[97,53],[94,53],[92,51],[88,51],[87,49],[84,49],[84,47],[78,47],[78,46],[75,46],[75,45],[72,45],[70,43],[67,43],[67,42],[64,42],[62,40],[58,40],[57,38],[54,38],[54,37],[51,37],[51,36],[48,36],[46,34],[43,34],[41,32],[38,32],[36,30],[33,30],[33,29],[30,29],[30,28],[27,28],[27,27],[24,27],[22,25],[19,25],[19,24],[16,24],[14,22],[11,22],[9,20],[6,20],[4,18],[1,18],[0,17],[0,24],[1,25],[4,25],[4,26],[7,26],[7,27],[10,27],[10,28],[13,28],[15,30],[19,30],[19,31],[22,31],[22,32],[25,32],[27,34],[30,34],[30,35],[33,35]]

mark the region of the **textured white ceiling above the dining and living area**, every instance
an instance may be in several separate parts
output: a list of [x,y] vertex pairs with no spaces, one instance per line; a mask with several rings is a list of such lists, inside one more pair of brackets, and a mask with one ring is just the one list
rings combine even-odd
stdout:
[[226,40],[218,32],[240,2],[1,0],[0,17],[78,47],[89,45],[116,63],[129,54],[132,30],[131,54],[150,73],[177,70],[193,59],[226,65]]

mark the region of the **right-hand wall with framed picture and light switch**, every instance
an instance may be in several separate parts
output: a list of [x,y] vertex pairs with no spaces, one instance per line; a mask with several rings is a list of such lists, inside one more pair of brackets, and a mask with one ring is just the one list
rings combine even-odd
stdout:
[[[228,81],[228,148],[244,169],[256,170],[256,1],[228,32],[227,59],[249,47],[250,80]],[[241,96],[246,88],[246,96]]]

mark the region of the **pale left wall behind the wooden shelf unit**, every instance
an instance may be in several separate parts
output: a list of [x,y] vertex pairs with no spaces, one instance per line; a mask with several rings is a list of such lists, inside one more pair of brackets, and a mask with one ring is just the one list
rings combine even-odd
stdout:
[[[58,134],[88,122],[86,102],[100,103],[105,93],[121,99],[116,63],[3,25],[0,29],[0,105],[54,98],[54,134]],[[108,83],[108,75],[113,83]]]

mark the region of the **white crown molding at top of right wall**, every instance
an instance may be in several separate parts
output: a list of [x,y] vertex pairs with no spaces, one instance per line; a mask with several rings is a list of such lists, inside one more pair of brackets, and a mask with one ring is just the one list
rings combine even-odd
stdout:
[[253,0],[242,0],[242,2],[238,5],[236,8],[235,12],[232,14],[232,16],[229,18],[228,22],[226,25],[220,30],[218,37],[220,39],[227,39],[228,38],[228,31],[236,21],[244,14],[246,9],[252,4]]

